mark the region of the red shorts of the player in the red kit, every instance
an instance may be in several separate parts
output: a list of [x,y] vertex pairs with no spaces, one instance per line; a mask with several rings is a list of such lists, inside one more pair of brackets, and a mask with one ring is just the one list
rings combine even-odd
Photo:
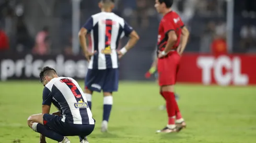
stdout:
[[170,51],[168,56],[158,59],[157,71],[160,86],[174,85],[179,70],[180,55],[177,51]]

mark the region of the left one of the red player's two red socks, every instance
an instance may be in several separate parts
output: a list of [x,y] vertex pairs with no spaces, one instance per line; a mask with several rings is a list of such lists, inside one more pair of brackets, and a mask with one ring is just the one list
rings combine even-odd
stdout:
[[176,114],[176,106],[175,103],[175,97],[172,92],[162,92],[166,99],[166,109],[168,113],[168,125],[175,125],[175,114]]

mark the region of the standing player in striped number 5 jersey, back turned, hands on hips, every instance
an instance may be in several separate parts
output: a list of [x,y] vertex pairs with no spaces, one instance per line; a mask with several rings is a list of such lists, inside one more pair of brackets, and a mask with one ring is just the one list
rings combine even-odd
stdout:
[[[85,79],[85,95],[91,109],[92,92],[103,90],[103,120],[101,132],[107,132],[109,116],[113,104],[112,92],[118,90],[118,58],[121,58],[138,41],[138,35],[123,18],[113,14],[114,0],[101,0],[102,12],[91,16],[80,29],[79,40],[86,59],[89,61]],[[91,34],[92,51],[86,46],[85,35]],[[129,42],[117,51],[119,40],[130,36]]]

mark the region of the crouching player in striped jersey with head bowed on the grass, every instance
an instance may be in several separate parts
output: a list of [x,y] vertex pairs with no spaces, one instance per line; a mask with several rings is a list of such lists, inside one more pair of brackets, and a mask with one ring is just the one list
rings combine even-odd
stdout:
[[[31,115],[28,126],[41,134],[40,142],[45,137],[58,142],[69,143],[65,136],[79,136],[81,143],[88,143],[86,136],[94,131],[95,120],[88,107],[83,89],[71,77],[59,77],[50,67],[40,72],[43,84],[42,114]],[[50,113],[51,104],[61,112]]]

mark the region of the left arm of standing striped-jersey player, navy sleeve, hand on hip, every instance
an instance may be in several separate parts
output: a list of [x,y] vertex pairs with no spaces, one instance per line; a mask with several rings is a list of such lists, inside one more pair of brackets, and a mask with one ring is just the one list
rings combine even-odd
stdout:
[[86,44],[86,35],[87,35],[87,33],[90,33],[90,31],[92,30],[93,27],[94,27],[94,20],[92,19],[92,17],[90,17],[78,33],[80,45],[81,45],[83,52],[85,54],[85,57],[88,61],[90,60],[90,57],[93,54],[89,53],[89,51],[88,51],[87,44]]

